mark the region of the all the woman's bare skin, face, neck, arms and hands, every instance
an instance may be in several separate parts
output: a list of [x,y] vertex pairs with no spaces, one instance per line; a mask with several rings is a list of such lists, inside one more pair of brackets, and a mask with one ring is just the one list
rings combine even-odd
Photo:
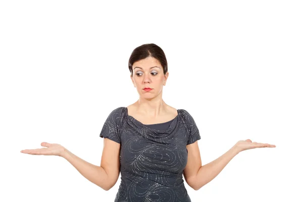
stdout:
[[[151,68],[155,67],[158,68]],[[140,67],[140,68],[136,68]],[[177,116],[175,108],[167,105],[162,99],[163,86],[166,85],[168,75],[164,75],[161,63],[148,57],[133,64],[131,81],[136,87],[139,99],[128,106],[128,114],[143,124],[163,123]],[[153,88],[144,91],[144,87]],[[101,166],[92,165],[72,154],[64,146],[56,143],[42,142],[44,148],[25,149],[21,153],[30,155],[60,156],[69,161],[85,178],[94,184],[109,190],[115,185],[119,176],[120,144],[104,138],[104,150]],[[184,178],[194,190],[198,190],[213,180],[223,168],[241,151],[253,148],[276,147],[273,144],[252,142],[250,139],[237,141],[225,154],[218,159],[202,166],[197,141],[186,145],[188,151],[187,165],[184,169]]]

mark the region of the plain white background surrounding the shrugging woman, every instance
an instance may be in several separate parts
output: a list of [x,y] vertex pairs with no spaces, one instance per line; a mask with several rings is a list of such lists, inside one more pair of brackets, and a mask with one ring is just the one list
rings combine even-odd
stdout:
[[138,99],[133,49],[165,52],[165,102],[200,131],[203,165],[238,140],[241,152],[196,201],[302,201],[301,1],[1,1],[0,201],[114,201],[57,156],[22,149],[60,143],[100,165],[109,113]]

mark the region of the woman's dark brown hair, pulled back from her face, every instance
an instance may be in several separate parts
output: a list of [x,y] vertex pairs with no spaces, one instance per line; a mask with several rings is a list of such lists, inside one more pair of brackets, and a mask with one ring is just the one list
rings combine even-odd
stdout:
[[148,57],[156,58],[161,63],[161,66],[163,67],[164,75],[166,74],[168,70],[167,60],[162,48],[156,45],[155,43],[145,43],[143,45],[136,47],[129,57],[128,69],[131,73],[131,76],[133,76],[132,65],[135,62]]

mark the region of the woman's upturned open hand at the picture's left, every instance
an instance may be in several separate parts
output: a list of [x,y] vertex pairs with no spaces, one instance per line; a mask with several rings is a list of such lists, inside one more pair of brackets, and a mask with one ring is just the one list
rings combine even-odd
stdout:
[[36,148],[36,149],[25,149],[21,150],[21,153],[29,154],[29,155],[48,155],[48,156],[60,156],[62,157],[65,148],[60,144],[51,144],[47,142],[42,142],[41,146],[46,148]]

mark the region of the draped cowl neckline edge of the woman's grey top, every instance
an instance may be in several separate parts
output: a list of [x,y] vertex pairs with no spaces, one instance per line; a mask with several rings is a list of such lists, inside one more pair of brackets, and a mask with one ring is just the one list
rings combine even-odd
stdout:
[[[125,107],[125,110],[126,110],[126,117],[127,117],[129,120],[133,121],[136,125],[145,128],[146,130],[154,131],[154,132],[157,132],[157,133],[166,133],[166,132],[168,132],[168,131],[171,131],[172,128],[176,125],[176,122],[177,122],[177,120],[178,120],[178,117],[180,116],[180,110],[177,109],[177,112],[178,112],[177,116],[176,116],[175,118],[173,118],[172,120],[170,120],[170,121],[167,121],[167,122],[164,122],[164,123],[156,123],[156,124],[143,124],[143,123],[141,123],[140,121],[138,121],[137,119],[135,119],[134,117],[128,115],[128,109],[127,109],[127,107]],[[158,129],[154,129],[154,128],[148,127],[149,125],[155,126],[155,125],[165,124],[165,123],[168,123],[168,122],[171,122],[171,124],[170,124],[170,126],[168,127],[168,129],[166,129],[166,130],[158,130]]]

